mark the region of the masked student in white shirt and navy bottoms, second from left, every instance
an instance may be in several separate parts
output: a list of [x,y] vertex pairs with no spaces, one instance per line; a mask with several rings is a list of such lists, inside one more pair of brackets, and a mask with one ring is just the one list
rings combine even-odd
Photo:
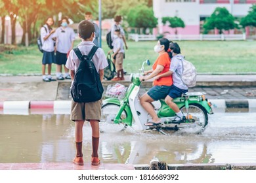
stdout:
[[[60,21],[60,27],[56,29],[53,37],[56,37],[56,78],[57,80],[71,79],[69,70],[66,68],[67,54],[73,49],[75,32],[68,27],[70,22],[68,17],[64,16]],[[64,75],[62,75],[62,65],[64,67]]]

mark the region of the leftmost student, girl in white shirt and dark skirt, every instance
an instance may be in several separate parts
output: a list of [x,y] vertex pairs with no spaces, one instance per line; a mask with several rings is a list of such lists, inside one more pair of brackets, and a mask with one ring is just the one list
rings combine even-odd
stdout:
[[[53,41],[53,33],[55,29],[51,26],[54,24],[53,18],[47,18],[46,24],[41,27],[41,41],[43,42],[43,59],[42,59],[42,75],[43,81],[50,82],[52,79],[51,69],[52,63],[54,63],[54,41]],[[48,75],[45,75],[46,65],[48,65]]]

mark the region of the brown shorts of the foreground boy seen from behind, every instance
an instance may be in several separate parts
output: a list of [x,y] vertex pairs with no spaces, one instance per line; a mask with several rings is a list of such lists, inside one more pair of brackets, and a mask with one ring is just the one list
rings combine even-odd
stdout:
[[101,104],[102,100],[91,103],[76,103],[71,101],[70,120],[98,120],[101,118]]

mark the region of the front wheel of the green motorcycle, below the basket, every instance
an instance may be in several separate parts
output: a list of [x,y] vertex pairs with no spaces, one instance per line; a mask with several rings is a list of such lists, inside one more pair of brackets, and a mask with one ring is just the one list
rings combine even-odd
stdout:
[[[127,125],[123,123],[115,124],[114,119],[120,106],[112,103],[106,103],[101,107],[100,132],[115,133],[123,131]],[[127,118],[127,112],[123,110],[121,120]]]

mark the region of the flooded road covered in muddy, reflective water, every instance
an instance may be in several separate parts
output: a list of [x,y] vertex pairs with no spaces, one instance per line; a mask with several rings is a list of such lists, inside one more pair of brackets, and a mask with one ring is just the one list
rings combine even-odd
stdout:
[[[202,134],[181,130],[102,133],[104,163],[256,163],[256,113],[215,113]],[[91,159],[91,127],[83,128],[83,155]],[[0,163],[68,162],[75,156],[74,122],[68,114],[0,115]]]

